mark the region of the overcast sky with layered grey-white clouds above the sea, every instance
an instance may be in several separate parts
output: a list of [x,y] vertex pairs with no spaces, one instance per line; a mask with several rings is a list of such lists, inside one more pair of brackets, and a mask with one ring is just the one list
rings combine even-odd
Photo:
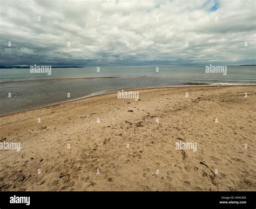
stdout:
[[0,0],[0,66],[255,64],[254,0]]

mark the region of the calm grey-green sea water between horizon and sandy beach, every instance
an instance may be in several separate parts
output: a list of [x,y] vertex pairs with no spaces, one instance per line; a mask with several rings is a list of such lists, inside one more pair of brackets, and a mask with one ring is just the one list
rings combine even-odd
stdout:
[[[198,83],[256,83],[256,66],[227,66],[226,75],[205,73],[204,66],[160,66],[159,72],[156,72],[156,67],[100,67],[100,72],[96,71],[96,67],[52,68],[51,71],[51,75],[47,75],[30,73],[29,68],[0,69],[0,115],[122,89]],[[70,98],[67,93],[70,93]]]

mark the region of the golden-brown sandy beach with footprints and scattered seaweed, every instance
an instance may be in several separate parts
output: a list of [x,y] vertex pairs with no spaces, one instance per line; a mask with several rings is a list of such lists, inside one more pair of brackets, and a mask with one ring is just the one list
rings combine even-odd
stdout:
[[0,190],[256,191],[255,86],[138,92],[0,117]]

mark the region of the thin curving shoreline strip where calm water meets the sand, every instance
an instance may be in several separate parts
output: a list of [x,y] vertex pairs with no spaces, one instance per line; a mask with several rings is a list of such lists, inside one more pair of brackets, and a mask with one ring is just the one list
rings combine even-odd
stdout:
[[[255,84],[238,84],[238,85],[181,85],[181,86],[167,86],[167,87],[149,87],[149,88],[132,88],[132,89],[123,89],[125,91],[133,91],[133,90],[151,90],[151,89],[168,89],[168,88],[184,88],[184,87],[231,87],[231,86],[254,86],[256,85]],[[122,90],[122,89],[121,89]],[[87,96],[83,96],[83,97],[79,97],[77,99],[72,99],[72,100],[66,100],[66,101],[63,101],[63,102],[58,102],[58,103],[52,103],[50,105],[45,105],[45,106],[40,106],[40,107],[36,107],[36,108],[31,108],[31,109],[26,109],[26,110],[22,110],[22,111],[18,111],[18,112],[15,112],[15,113],[8,113],[8,114],[4,114],[4,115],[0,115],[0,118],[1,117],[7,117],[9,115],[15,115],[15,114],[18,114],[18,113],[25,113],[25,112],[29,112],[29,111],[32,111],[32,110],[37,110],[37,109],[41,109],[41,108],[46,108],[46,107],[51,107],[51,106],[58,106],[58,105],[61,105],[61,104],[66,104],[66,103],[70,103],[70,102],[75,102],[75,101],[79,101],[79,100],[84,100],[84,99],[88,99],[88,98],[91,98],[91,97],[95,97],[95,96],[103,96],[103,95],[108,95],[108,94],[114,94],[114,93],[117,93],[118,90],[114,90],[114,91],[111,91],[111,92],[106,92],[106,93],[103,93],[103,94],[95,94],[95,95],[87,95]]]

